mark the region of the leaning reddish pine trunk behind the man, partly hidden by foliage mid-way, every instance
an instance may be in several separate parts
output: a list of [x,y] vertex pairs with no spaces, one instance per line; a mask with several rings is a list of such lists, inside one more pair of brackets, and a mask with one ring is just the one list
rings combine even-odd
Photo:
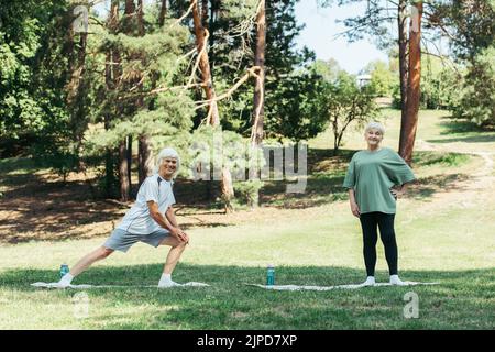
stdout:
[[[193,20],[195,25],[195,34],[196,34],[196,45],[198,50],[199,57],[199,69],[202,75],[202,87],[208,100],[211,100],[209,111],[208,111],[208,124],[217,127],[220,124],[220,116],[218,112],[217,94],[215,92],[210,63],[208,58],[207,43],[205,41],[205,36],[207,31],[202,26],[202,21],[198,11],[198,1],[191,0],[193,4]],[[233,211],[232,208],[232,198],[234,196],[233,185],[232,185],[232,176],[230,170],[222,166],[222,180],[221,180],[221,189],[222,189],[222,199],[226,204],[226,212]]]

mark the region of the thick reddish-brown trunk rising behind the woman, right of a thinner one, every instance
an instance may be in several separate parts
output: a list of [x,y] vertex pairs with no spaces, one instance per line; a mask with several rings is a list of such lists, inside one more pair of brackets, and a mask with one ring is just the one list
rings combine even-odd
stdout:
[[404,130],[404,142],[400,143],[399,154],[407,164],[411,164],[413,150],[418,127],[419,95],[421,79],[421,15],[422,2],[413,6],[409,28],[409,85],[407,88],[407,119],[400,127]]

